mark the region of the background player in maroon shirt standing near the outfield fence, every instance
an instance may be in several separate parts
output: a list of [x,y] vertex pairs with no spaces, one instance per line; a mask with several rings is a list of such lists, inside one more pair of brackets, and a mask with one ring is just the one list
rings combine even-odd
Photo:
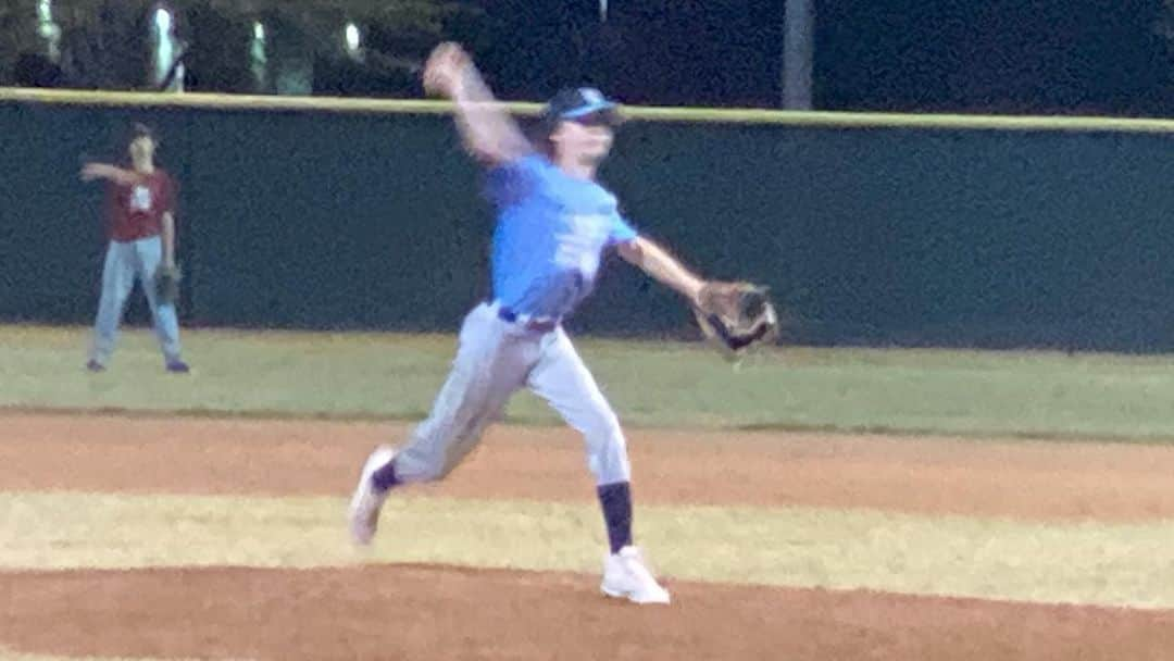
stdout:
[[188,372],[180,356],[180,322],[174,302],[158,299],[155,277],[160,267],[175,267],[175,182],[155,164],[155,135],[144,124],[131,128],[127,154],[130,168],[86,163],[83,181],[106,180],[107,235],[102,295],[94,322],[94,342],[86,369],[106,369],[117,340],[127,297],[137,278],[150,305],[155,335],[169,372]]

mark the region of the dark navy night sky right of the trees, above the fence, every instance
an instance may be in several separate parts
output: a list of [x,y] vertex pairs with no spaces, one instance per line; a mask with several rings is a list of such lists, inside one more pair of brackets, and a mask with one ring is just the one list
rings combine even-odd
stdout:
[[[1161,0],[814,0],[826,110],[1174,114]],[[628,103],[780,103],[784,0],[486,1],[504,97],[591,82]]]

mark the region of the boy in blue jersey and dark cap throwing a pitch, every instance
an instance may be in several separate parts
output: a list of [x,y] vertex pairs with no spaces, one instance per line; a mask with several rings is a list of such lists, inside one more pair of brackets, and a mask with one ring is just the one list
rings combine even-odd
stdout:
[[636,234],[615,196],[595,181],[618,119],[616,104],[598,90],[567,89],[552,99],[542,115],[544,143],[535,146],[459,46],[432,52],[424,85],[453,101],[465,146],[488,168],[485,193],[497,210],[493,296],[465,317],[452,372],[427,419],[402,447],[379,446],[364,464],[349,510],[351,534],[370,544],[392,487],[443,479],[510,397],[528,387],[586,441],[610,547],[602,592],[668,603],[668,592],[633,545],[632,470],[619,419],[561,321],[592,291],[610,248],[690,303],[704,281]]

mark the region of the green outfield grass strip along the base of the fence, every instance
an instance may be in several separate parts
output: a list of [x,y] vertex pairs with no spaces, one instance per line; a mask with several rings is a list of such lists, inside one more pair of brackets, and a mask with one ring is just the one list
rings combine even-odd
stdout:
[[[0,329],[0,406],[418,419],[450,336],[187,331],[188,377],[134,330],[112,369],[81,369],[88,329]],[[629,426],[1167,440],[1174,357],[780,349],[731,365],[700,344],[580,339]],[[558,421],[520,393],[517,424]]]

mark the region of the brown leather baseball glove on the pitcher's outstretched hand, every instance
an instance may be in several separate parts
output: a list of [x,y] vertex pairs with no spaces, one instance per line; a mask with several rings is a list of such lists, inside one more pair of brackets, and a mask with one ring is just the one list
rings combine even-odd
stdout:
[[706,338],[727,357],[769,342],[778,330],[778,317],[767,288],[749,282],[707,282],[693,312]]

